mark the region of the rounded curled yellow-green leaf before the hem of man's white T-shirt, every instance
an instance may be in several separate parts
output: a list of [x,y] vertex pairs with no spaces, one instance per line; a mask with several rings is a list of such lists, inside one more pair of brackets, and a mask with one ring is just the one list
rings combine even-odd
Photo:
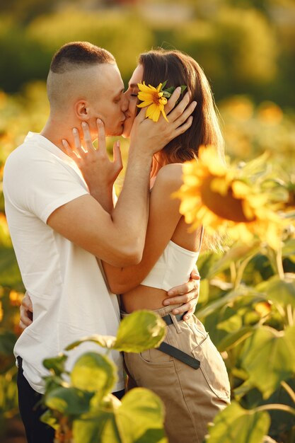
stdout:
[[71,371],[72,386],[84,391],[95,391],[101,398],[112,391],[116,381],[115,364],[96,352],[81,355]]

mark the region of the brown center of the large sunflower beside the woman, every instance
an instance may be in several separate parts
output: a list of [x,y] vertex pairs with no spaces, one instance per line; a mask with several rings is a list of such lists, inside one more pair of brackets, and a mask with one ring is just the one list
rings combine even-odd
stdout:
[[233,192],[229,188],[226,195],[220,195],[211,189],[211,182],[214,177],[209,176],[204,179],[201,185],[202,202],[218,217],[231,220],[236,223],[250,223],[255,220],[245,217],[243,212],[243,200],[233,197]]

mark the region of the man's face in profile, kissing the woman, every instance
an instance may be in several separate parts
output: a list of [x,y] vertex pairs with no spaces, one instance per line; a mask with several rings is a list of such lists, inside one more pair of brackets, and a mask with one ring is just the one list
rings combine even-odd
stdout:
[[121,135],[128,108],[124,95],[124,84],[116,64],[100,64],[93,81],[91,96],[88,97],[91,132],[97,131],[96,119],[105,124],[106,135]]

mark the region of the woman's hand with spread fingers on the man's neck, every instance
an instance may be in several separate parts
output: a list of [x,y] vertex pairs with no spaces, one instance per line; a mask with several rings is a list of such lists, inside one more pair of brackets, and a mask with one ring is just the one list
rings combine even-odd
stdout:
[[[112,209],[112,187],[117,176],[122,171],[122,156],[120,142],[113,146],[113,161],[110,161],[105,143],[105,127],[102,120],[97,120],[98,126],[98,149],[93,146],[91,133],[86,122],[82,122],[84,145],[81,145],[81,137],[77,128],[73,129],[74,149],[69,142],[63,139],[65,153],[71,157],[80,169],[84,180],[88,185],[91,195],[98,200],[100,205],[108,212]],[[106,195],[108,199],[106,199]],[[105,202],[108,202],[106,205]]]

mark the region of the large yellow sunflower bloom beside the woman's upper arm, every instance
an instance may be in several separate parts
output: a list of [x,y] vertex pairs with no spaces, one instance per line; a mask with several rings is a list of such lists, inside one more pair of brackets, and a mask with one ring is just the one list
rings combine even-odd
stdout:
[[243,177],[241,168],[226,166],[213,146],[201,146],[199,159],[183,165],[183,185],[173,194],[191,229],[203,225],[209,234],[229,234],[248,242],[253,235],[277,249],[282,219],[270,205],[270,195]]

